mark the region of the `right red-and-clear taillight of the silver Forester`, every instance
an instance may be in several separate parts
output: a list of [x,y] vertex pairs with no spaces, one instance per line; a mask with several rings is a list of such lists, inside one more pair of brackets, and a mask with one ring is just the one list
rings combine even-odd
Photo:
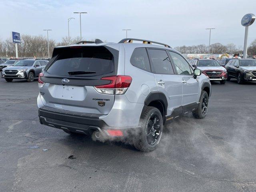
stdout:
[[94,88],[99,93],[121,95],[126,92],[132,83],[132,77],[126,75],[103,77],[102,80],[110,80],[109,84],[98,85]]

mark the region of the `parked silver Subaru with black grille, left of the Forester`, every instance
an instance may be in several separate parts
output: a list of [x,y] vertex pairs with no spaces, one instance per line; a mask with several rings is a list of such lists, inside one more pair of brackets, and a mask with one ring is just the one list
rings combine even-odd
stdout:
[[46,66],[48,60],[23,59],[19,60],[12,66],[8,66],[2,70],[2,78],[7,82],[14,79],[26,79],[28,82],[34,81],[38,77],[42,68]]

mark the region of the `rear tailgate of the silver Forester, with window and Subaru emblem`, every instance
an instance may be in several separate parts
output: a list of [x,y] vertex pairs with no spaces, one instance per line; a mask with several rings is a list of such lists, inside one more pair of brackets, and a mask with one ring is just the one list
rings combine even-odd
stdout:
[[118,50],[105,46],[57,48],[41,78],[45,82],[40,88],[44,104],[74,112],[108,114],[114,95],[101,94],[94,86],[110,83],[101,78],[116,75],[117,62]]

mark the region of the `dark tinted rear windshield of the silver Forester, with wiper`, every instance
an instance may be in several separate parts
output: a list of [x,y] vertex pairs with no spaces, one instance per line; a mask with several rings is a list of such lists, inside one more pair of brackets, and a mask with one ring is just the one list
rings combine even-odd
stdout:
[[98,76],[114,72],[113,55],[105,47],[80,47],[59,50],[47,72],[60,76]]

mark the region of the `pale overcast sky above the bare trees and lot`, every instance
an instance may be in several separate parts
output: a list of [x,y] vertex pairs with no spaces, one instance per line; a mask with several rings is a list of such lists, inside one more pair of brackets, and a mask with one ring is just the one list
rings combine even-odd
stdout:
[[[164,42],[172,47],[211,43],[244,44],[241,18],[256,14],[256,0],[0,0],[0,38],[10,31],[30,35],[46,35],[61,41],[80,36],[79,15],[82,15],[82,36],[118,42],[125,38],[122,29],[132,29],[128,37]],[[249,27],[248,43],[256,39],[256,22]]]

